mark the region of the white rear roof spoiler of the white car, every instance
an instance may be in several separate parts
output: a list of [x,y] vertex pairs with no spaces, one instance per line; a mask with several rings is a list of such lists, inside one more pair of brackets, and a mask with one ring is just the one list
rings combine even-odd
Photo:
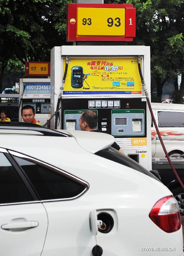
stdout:
[[[59,130],[58,130],[59,131]],[[66,133],[66,130],[60,130]],[[102,132],[67,131],[75,137],[77,143],[85,150],[96,153],[109,148],[114,143],[114,137]]]

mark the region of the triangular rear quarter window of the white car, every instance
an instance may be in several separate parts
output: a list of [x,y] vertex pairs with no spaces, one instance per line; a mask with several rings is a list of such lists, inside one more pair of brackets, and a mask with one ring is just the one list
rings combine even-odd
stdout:
[[59,169],[49,169],[33,161],[14,156],[33,184],[41,200],[72,199],[86,190],[86,186],[63,175]]

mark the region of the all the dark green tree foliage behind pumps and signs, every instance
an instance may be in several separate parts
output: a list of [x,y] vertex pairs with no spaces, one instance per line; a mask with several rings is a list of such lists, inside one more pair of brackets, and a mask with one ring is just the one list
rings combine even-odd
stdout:
[[[66,43],[66,5],[71,0],[0,1],[0,91],[3,75],[18,77],[25,61],[50,61],[50,50]],[[174,99],[184,94],[184,1],[105,0],[133,4],[136,8],[136,38],[129,45],[151,49],[151,77],[161,98],[168,79],[174,81]],[[19,70],[20,69],[20,70]],[[13,75],[14,74],[14,75]],[[178,90],[178,74],[182,83]]]

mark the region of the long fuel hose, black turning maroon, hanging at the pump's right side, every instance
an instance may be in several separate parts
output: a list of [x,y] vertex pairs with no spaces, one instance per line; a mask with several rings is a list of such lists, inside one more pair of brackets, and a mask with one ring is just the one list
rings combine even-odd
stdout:
[[174,174],[175,174],[175,176],[176,176],[176,178],[177,178],[179,184],[181,185],[182,189],[184,190],[184,185],[183,185],[183,183],[182,183],[180,177],[178,176],[178,173],[177,173],[176,170],[174,169],[174,166],[173,166],[173,164],[172,164],[172,162],[171,162],[171,159],[170,159],[170,157],[169,157],[169,155],[168,155],[168,153],[167,153],[167,150],[166,150],[165,145],[164,145],[164,143],[163,143],[162,137],[161,137],[161,135],[160,135],[158,126],[157,126],[156,121],[155,121],[155,117],[154,117],[154,115],[153,115],[153,111],[152,111],[151,104],[150,104],[150,100],[149,100],[149,95],[148,95],[148,92],[147,92],[147,89],[146,89],[146,85],[145,85],[145,83],[144,83],[144,78],[143,78],[143,75],[142,75],[142,71],[141,71],[140,56],[138,56],[138,69],[139,69],[139,75],[140,75],[141,83],[142,83],[142,85],[143,85],[143,90],[144,90],[144,93],[145,93],[145,95],[146,95],[146,100],[147,100],[147,102],[148,102],[148,107],[149,107],[149,110],[150,110],[150,113],[151,113],[151,117],[152,117],[153,123],[154,123],[154,125],[155,125],[156,132],[157,132],[157,134],[158,134],[158,136],[159,136],[159,140],[160,140],[160,143],[161,143],[161,145],[162,145],[163,151],[164,151],[164,153],[166,154],[167,160],[168,160],[168,162],[169,162],[169,164],[170,164],[170,166],[171,166],[171,168],[172,168],[172,170],[173,170],[173,172],[174,172]]

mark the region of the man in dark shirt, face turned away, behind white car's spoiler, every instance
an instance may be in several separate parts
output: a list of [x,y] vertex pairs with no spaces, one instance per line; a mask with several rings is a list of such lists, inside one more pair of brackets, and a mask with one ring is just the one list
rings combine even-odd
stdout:
[[[81,131],[88,131],[88,132],[101,132],[99,129],[97,130],[97,122],[98,122],[98,116],[94,111],[87,110],[84,111],[79,119],[79,125],[81,128]],[[119,152],[123,153],[120,146],[114,142],[111,147],[119,150]]]

